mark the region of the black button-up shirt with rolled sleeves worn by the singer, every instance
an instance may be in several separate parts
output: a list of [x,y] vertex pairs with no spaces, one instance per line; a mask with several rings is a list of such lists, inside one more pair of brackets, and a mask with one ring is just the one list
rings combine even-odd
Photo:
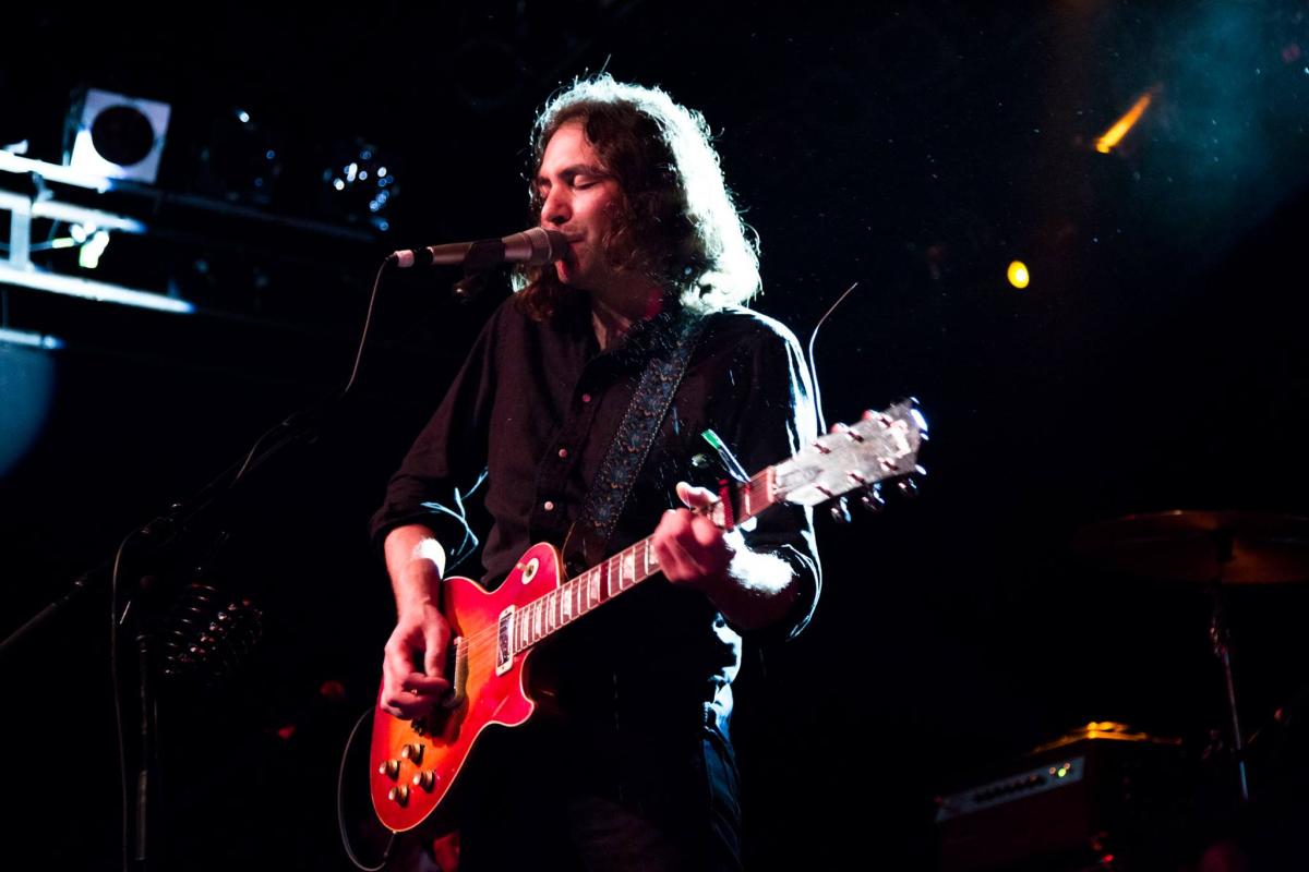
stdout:
[[[670,320],[639,322],[617,348],[601,352],[584,294],[547,322],[508,299],[391,477],[373,516],[374,540],[401,524],[425,524],[453,567],[474,543],[463,499],[484,473],[493,522],[482,549],[484,584],[497,584],[537,541],[564,545],[649,349],[669,341]],[[694,455],[712,455],[702,437],[707,429],[751,475],[817,435],[804,357],[791,332],[745,309],[708,316],[607,553],[648,536],[662,511],[681,505],[675,484],[695,481]],[[798,633],[819,587],[809,511],[771,509],[745,537],[796,571],[802,591],[796,611],[767,633]],[[565,556],[576,544],[568,541]],[[545,668],[558,684],[558,702],[585,735],[666,735],[707,722],[725,732],[741,637],[696,591],[651,579],[545,647],[552,648]]]

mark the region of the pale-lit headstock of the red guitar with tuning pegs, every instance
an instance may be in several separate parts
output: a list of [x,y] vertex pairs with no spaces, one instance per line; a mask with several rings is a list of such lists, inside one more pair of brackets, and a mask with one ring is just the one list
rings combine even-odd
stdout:
[[927,420],[916,400],[903,400],[884,412],[865,412],[851,426],[834,433],[774,467],[774,498],[817,506],[834,497],[920,472],[918,450],[927,438]]

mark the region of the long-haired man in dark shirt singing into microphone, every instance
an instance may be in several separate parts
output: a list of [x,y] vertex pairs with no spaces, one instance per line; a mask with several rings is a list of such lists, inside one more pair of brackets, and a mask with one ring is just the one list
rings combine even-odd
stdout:
[[[728,722],[742,635],[801,630],[818,557],[808,510],[724,532],[698,511],[715,493],[687,482],[755,473],[817,435],[802,354],[742,307],[759,289],[755,248],[698,112],[658,89],[579,81],[537,119],[531,161],[533,220],[567,251],[516,275],[373,518],[398,611],[382,706],[418,718],[450,688],[440,584],[476,541],[462,497],[483,475],[487,587],[537,541],[594,562],[653,533],[664,578],[548,639],[533,692],[551,714],[499,731],[461,775],[461,868],[740,868]],[[660,405],[643,374],[681,349]],[[609,481],[634,396],[662,418],[635,475]],[[600,543],[586,541],[593,489],[626,494]]]

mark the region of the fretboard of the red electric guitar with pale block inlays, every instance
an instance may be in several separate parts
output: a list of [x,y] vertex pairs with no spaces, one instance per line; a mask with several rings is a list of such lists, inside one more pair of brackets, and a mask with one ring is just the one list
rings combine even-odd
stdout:
[[[774,469],[775,467],[768,467],[749,481],[733,486],[733,502],[737,506],[734,524],[744,523],[776,505],[772,488]],[[558,590],[516,612],[512,630],[514,654],[530,648],[658,571],[653,537],[647,536],[568,579]]]

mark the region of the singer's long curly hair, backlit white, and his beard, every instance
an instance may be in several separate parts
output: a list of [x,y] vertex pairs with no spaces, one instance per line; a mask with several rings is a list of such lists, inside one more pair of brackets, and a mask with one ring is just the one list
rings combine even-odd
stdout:
[[[550,137],[581,122],[622,196],[602,241],[615,268],[643,276],[683,306],[716,310],[745,305],[759,292],[759,243],[732,201],[704,118],[658,88],[580,78],[550,98],[531,132],[528,190],[531,221],[543,205],[535,178]],[[571,293],[554,264],[513,273],[518,305],[550,318]]]

